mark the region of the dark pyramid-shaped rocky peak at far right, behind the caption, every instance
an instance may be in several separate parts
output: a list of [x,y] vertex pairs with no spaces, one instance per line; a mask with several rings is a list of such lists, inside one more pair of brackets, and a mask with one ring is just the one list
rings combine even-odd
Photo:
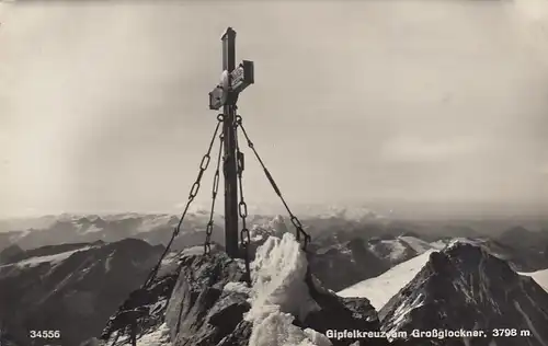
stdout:
[[[399,335],[403,345],[543,346],[548,342],[547,312],[548,292],[534,279],[515,273],[486,246],[456,241],[430,253],[379,316],[383,331],[407,333]],[[448,339],[413,334],[433,330],[476,334]],[[504,333],[510,334],[504,337]]]

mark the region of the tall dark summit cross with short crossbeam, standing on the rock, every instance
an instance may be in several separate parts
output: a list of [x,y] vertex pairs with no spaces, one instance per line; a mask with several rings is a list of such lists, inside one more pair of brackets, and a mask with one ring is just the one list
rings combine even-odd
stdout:
[[238,175],[236,161],[236,103],[238,95],[253,84],[253,61],[236,67],[236,32],[228,27],[222,41],[222,74],[220,83],[209,92],[209,109],[222,107],[225,138],[225,247],[230,257],[238,256]]

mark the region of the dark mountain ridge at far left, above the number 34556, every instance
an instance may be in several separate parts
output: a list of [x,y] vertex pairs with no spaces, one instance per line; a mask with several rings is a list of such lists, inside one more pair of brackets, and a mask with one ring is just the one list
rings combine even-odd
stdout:
[[[78,345],[98,335],[139,287],[162,246],[135,239],[15,251],[0,263],[2,342],[31,345],[28,331],[60,331],[33,345]],[[3,344],[2,344],[3,345]]]

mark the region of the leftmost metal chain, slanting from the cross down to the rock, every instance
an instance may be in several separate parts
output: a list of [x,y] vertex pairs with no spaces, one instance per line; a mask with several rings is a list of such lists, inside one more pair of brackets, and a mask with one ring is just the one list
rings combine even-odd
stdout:
[[209,142],[209,148],[207,149],[206,154],[202,158],[202,161],[199,162],[198,176],[191,187],[191,192],[189,194],[189,200],[186,201],[186,206],[184,207],[183,214],[181,215],[181,218],[179,219],[179,223],[175,227],[175,229],[173,230],[173,233],[171,234],[171,239],[168,243],[168,246],[165,246],[165,250],[163,251],[163,254],[160,256],[160,260],[158,261],[158,264],[156,265],[156,267],[150,272],[142,288],[147,288],[152,284],[153,278],[156,277],[156,275],[158,274],[158,270],[160,269],[160,266],[162,264],[163,258],[168,254],[168,252],[171,247],[171,244],[173,243],[173,240],[181,232],[181,226],[183,224],[184,217],[186,216],[186,212],[189,211],[189,207],[191,206],[192,201],[194,200],[194,198],[196,197],[196,195],[199,191],[199,184],[202,182],[202,177],[204,176],[205,170],[207,170],[207,166],[209,165],[209,161],[212,159],[212,157],[210,157],[212,148],[213,148],[213,145],[215,142],[215,138],[217,138],[217,132],[219,131],[220,124],[222,123],[224,119],[225,119],[225,116],[222,114],[217,115],[217,126],[215,127],[215,132],[213,134],[213,138],[212,138],[212,141]]

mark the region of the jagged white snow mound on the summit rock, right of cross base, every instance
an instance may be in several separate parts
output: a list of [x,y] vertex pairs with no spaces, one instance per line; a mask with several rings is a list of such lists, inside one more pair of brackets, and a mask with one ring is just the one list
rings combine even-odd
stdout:
[[319,309],[305,282],[307,267],[306,255],[292,233],[282,239],[270,237],[258,249],[251,264],[251,309],[244,318],[253,323],[250,346],[331,345],[324,335],[293,325],[295,316],[302,320]]

